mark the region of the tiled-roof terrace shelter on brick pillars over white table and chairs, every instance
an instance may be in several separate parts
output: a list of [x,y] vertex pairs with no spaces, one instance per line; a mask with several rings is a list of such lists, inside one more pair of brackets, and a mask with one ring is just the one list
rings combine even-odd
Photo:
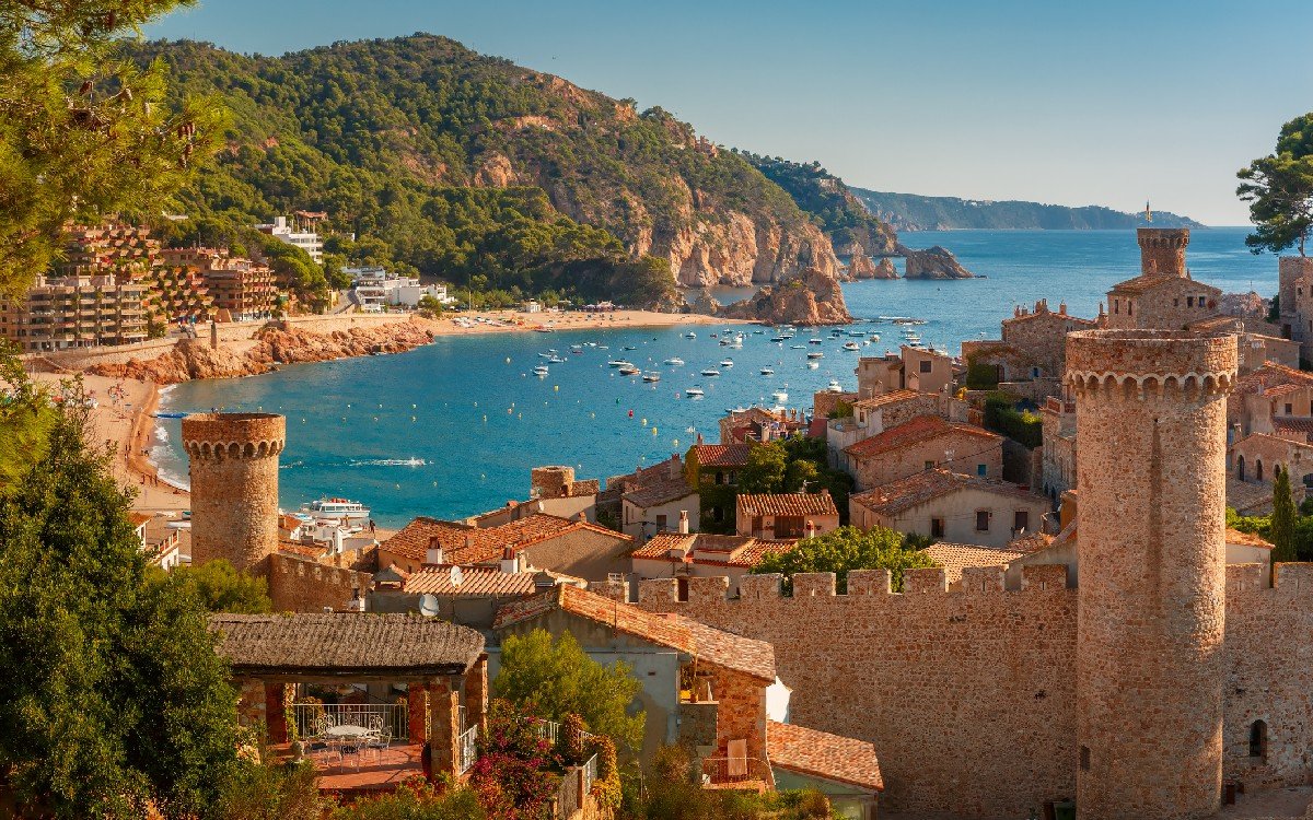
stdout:
[[410,740],[428,740],[432,775],[460,777],[473,762],[487,714],[487,655],[475,630],[365,613],[215,614],[210,630],[240,685],[243,719],[263,719],[270,743],[288,741],[289,685],[406,682]]

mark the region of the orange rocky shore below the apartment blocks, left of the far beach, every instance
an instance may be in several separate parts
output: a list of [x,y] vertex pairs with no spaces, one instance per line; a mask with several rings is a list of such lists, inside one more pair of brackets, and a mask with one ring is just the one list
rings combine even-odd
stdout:
[[278,365],[326,362],[376,353],[403,353],[433,341],[433,333],[420,321],[351,328],[332,333],[270,327],[260,331],[255,341],[253,348],[238,353],[230,346],[211,348],[206,338],[184,338],[155,358],[130,359],[121,365],[97,365],[88,373],[156,384],[176,384],[190,379],[225,379],[268,373]]

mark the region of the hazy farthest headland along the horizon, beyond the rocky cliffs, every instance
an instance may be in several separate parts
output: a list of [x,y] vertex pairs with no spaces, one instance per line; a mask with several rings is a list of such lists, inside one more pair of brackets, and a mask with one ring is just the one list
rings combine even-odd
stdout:
[[899,232],[914,231],[1113,231],[1152,224],[1159,228],[1207,228],[1188,216],[1153,211],[1153,222],[1142,213],[1116,211],[1100,205],[1069,207],[1041,202],[960,199],[922,197],[863,188],[852,193],[872,214]]

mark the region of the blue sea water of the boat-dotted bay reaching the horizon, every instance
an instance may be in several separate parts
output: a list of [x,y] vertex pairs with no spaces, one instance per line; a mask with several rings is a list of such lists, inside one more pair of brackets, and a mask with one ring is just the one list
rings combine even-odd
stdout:
[[[1275,294],[1276,258],[1250,253],[1246,234],[1192,231],[1191,274],[1225,293]],[[579,478],[605,479],[683,453],[699,434],[716,442],[729,408],[805,412],[811,394],[831,382],[856,386],[859,356],[898,349],[903,337],[888,318],[924,320],[922,344],[957,354],[964,340],[997,338],[999,321],[1018,304],[1048,299],[1057,310],[1065,302],[1069,312],[1092,318],[1111,285],[1140,272],[1134,231],[924,231],[899,239],[916,249],[944,245],[981,278],[847,283],[857,323],[838,337],[829,328],[798,328],[793,338],[772,342],[771,328],[733,325],[746,338],[742,349],[730,349],[720,336],[731,325],[450,336],[394,356],[185,382],[167,388],[161,411],[284,413],[285,509],[341,496],[365,502],[383,527],[420,514],[462,518],[525,499],[533,466],[570,464]],[[848,341],[861,350],[844,350]],[[574,345],[583,352],[571,353]],[[566,361],[548,363],[549,350]],[[811,352],[823,354],[811,359],[815,367]],[[616,358],[660,373],[660,380],[622,377],[608,366]],[[684,363],[666,365],[670,358]],[[722,366],[725,359],[733,366]],[[533,374],[538,365],[548,375]],[[773,374],[763,375],[763,367]],[[685,395],[692,387],[704,395]],[[180,424],[160,420],[151,455],[165,479],[185,485]]]

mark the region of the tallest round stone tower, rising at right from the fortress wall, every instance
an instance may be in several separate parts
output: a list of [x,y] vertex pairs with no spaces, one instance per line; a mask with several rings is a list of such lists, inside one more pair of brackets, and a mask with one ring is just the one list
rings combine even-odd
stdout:
[[1079,453],[1081,820],[1218,810],[1236,353],[1234,336],[1067,336]]

